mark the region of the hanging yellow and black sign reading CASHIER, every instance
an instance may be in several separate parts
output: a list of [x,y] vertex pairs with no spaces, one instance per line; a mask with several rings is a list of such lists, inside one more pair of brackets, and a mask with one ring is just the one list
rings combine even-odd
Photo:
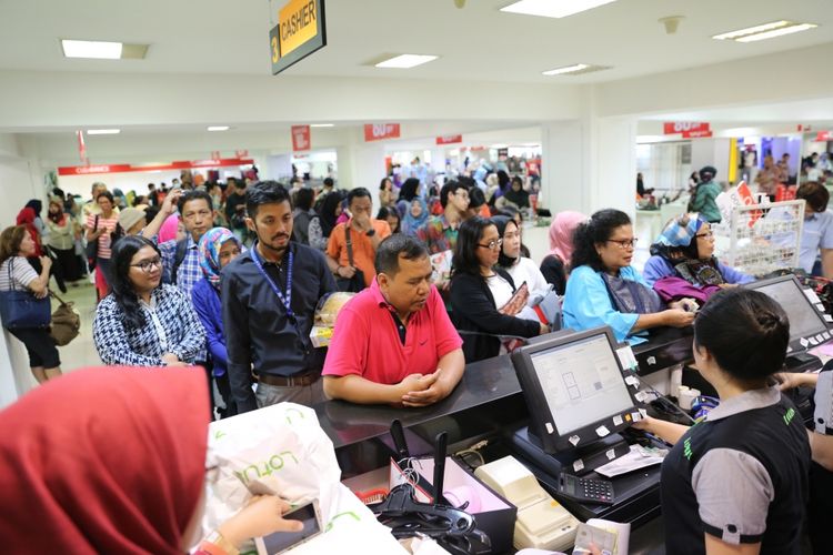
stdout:
[[278,12],[278,24],[269,31],[272,74],[324,46],[324,0],[290,0]]

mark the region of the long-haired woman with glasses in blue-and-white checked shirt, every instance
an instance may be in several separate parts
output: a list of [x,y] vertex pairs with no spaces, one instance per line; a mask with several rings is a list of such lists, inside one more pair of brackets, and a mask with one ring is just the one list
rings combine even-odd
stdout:
[[184,293],[162,284],[157,246],[141,235],[116,242],[112,293],[99,303],[92,339],[104,364],[183,366],[205,346],[202,327]]

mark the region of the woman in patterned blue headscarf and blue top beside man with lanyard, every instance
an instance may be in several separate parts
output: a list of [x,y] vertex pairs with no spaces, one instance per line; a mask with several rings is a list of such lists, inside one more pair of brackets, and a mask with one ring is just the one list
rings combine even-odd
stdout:
[[213,228],[202,235],[199,248],[200,268],[204,278],[194,284],[191,290],[191,300],[208,335],[212,374],[225,403],[223,416],[233,416],[237,411],[231,397],[229,375],[225,372],[229,359],[225,353],[225,333],[223,332],[222,304],[220,304],[220,270],[240,254],[243,245],[225,228]]

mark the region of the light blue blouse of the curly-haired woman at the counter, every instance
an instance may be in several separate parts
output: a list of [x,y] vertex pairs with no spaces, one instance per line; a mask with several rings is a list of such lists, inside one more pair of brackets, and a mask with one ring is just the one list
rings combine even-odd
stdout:
[[[621,269],[619,276],[648,286],[645,280],[631,266]],[[613,306],[600,272],[590,266],[579,266],[570,272],[562,312],[566,327],[582,331],[609,325],[613,329],[616,341],[628,340],[632,345],[646,341],[643,337],[629,337],[640,315],[619,312]]]

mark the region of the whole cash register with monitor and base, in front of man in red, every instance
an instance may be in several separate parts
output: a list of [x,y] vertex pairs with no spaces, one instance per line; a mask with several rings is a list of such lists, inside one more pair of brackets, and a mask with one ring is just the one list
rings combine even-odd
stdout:
[[511,357],[530,414],[511,443],[548,492],[582,519],[635,522],[659,506],[659,466],[612,481],[593,472],[630,453],[620,432],[642,418],[616,345],[604,326],[539,341]]

